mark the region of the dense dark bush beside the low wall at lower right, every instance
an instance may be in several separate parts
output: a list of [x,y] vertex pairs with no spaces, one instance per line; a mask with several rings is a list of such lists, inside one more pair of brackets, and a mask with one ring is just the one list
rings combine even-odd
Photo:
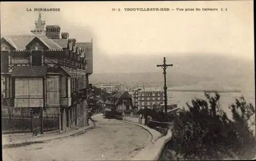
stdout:
[[255,113],[252,104],[243,96],[236,99],[229,107],[229,119],[220,108],[218,93],[205,93],[205,97],[207,100],[191,100],[189,111],[173,115],[173,138],[161,159],[255,158],[255,136],[248,123]]

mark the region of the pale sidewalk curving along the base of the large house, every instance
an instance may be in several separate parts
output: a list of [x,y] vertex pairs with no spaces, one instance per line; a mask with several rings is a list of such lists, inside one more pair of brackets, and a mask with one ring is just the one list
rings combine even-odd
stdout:
[[35,144],[35,143],[44,143],[48,142],[53,139],[58,139],[58,138],[64,138],[64,137],[69,137],[75,134],[82,133],[86,130],[90,130],[94,128],[94,123],[89,120],[89,125],[86,127],[82,127],[79,129],[71,129],[68,132],[63,132],[59,134],[59,132],[55,133],[46,133],[40,136],[34,136],[32,137],[32,134],[28,135],[12,135],[12,142],[9,143],[9,134],[7,135],[2,135],[2,142],[3,142],[3,148],[10,148],[10,147],[18,147],[18,146],[25,146],[29,144]]

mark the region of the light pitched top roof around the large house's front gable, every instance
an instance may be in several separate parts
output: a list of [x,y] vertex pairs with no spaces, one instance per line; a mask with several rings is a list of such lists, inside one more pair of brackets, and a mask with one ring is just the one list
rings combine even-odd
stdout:
[[37,37],[45,46],[50,50],[61,50],[62,47],[55,43],[52,39],[46,35],[35,35],[35,34],[20,34],[20,35],[9,35],[3,38],[16,50],[25,50],[29,43]]

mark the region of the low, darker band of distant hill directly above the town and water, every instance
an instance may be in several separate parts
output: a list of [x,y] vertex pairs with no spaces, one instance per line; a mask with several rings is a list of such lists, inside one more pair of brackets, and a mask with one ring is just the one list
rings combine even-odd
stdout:
[[[168,89],[176,90],[242,90],[253,91],[254,79],[248,77],[212,78],[182,73],[168,73],[166,76]],[[94,73],[90,82],[95,84],[115,82],[124,85],[144,84],[145,87],[162,87],[162,73]]]

